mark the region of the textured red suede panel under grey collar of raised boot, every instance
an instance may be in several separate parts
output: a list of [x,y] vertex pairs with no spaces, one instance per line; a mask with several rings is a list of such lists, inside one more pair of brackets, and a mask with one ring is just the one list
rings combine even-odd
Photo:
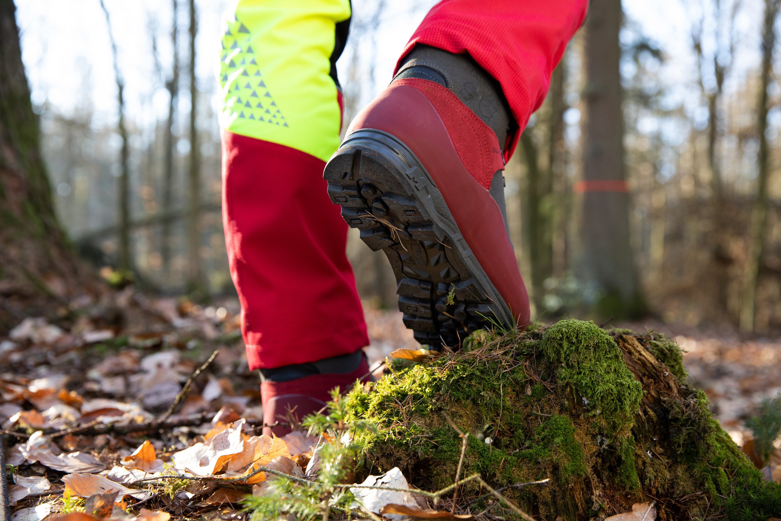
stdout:
[[419,78],[403,78],[394,85],[415,87],[429,98],[461,158],[466,170],[483,188],[490,190],[490,181],[497,170],[505,170],[501,148],[494,130],[483,122],[469,107],[447,87],[435,81]]

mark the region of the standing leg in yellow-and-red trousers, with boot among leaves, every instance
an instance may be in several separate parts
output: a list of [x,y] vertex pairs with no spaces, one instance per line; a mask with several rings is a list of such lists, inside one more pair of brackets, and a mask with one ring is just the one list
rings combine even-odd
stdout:
[[348,0],[242,0],[223,36],[223,225],[267,423],[368,372],[347,226],[323,180],[349,17]]

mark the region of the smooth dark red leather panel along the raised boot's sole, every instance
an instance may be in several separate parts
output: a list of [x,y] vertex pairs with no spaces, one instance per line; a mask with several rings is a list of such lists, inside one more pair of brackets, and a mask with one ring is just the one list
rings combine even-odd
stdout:
[[[529,295],[499,207],[466,170],[448,128],[426,93],[391,84],[369,103],[348,128],[383,130],[405,143],[430,173],[480,266],[521,325],[529,323]],[[494,137],[495,139],[495,137]]]

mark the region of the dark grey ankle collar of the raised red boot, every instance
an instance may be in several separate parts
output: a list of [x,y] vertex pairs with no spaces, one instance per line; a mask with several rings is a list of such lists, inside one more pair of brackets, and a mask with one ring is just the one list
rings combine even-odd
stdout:
[[494,130],[499,146],[505,149],[510,124],[514,124],[510,107],[497,80],[477,65],[470,55],[415,45],[412,52],[405,56],[394,80],[405,77],[436,81],[448,87]]

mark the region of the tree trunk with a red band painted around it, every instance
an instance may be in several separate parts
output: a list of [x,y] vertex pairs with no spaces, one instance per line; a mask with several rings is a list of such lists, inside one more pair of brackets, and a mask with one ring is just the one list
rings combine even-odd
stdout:
[[623,150],[620,0],[594,0],[584,30],[583,193],[580,275],[603,316],[644,312],[629,243]]

